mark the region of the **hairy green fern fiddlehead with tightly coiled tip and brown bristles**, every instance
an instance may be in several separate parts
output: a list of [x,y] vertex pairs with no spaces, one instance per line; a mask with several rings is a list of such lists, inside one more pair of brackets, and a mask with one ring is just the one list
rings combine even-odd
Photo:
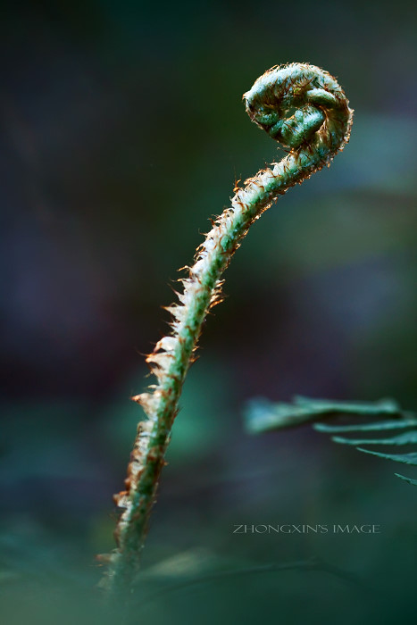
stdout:
[[115,496],[121,517],[115,531],[117,549],[107,556],[107,586],[131,588],[138,573],[156,488],[163,469],[171,427],[178,412],[181,387],[200,335],[204,317],[221,301],[221,275],[249,226],[289,187],[329,165],[348,141],[353,111],[337,81],[327,71],[306,63],[274,67],[256,80],[244,96],[249,117],[289,148],[273,167],[247,179],[231,206],[213,222],[196,251],[184,291],[171,312],[171,335],[163,337],[146,358],[157,384],[133,397],[146,412],[138,425],[126,490]]

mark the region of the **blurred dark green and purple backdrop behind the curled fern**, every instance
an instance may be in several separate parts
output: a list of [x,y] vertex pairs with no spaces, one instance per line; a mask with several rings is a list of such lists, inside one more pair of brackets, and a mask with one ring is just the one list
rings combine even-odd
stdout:
[[[112,495],[142,416],[129,396],[151,381],[142,354],[208,218],[282,154],[241,95],[294,61],[338,77],[351,141],[256,222],[227,271],[128,620],[412,622],[415,488],[309,426],[249,437],[242,419],[254,396],[417,408],[412,3],[44,0],[2,13],[4,622],[114,620],[94,554],[113,548]],[[234,535],[240,523],[382,531]],[[304,568],[312,556],[320,571]],[[220,575],[288,562],[302,563]]]

